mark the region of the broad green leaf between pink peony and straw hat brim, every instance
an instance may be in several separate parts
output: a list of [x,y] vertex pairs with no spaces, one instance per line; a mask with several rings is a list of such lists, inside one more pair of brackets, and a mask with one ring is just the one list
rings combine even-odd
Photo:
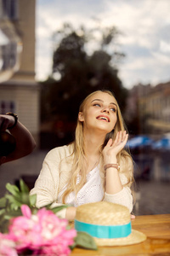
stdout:
[[94,237],[90,236],[86,232],[77,232],[77,237],[75,239],[75,245],[74,247],[83,247],[86,249],[91,249],[91,250],[97,250],[97,245],[94,241]]

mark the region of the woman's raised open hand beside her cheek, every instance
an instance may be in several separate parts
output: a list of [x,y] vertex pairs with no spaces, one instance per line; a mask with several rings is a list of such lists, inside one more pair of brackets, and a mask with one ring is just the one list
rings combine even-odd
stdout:
[[116,134],[116,139],[113,142],[112,139],[108,141],[103,149],[103,156],[105,164],[111,164],[116,162],[116,155],[124,148],[127,143],[128,134],[126,131],[119,131]]

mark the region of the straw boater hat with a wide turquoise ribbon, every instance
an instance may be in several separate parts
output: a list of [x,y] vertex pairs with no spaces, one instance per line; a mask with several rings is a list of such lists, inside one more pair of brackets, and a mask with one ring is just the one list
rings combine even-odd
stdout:
[[143,233],[132,230],[127,207],[106,201],[77,207],[75,229],[94,236],[99,246],[131,245],[146,239]]

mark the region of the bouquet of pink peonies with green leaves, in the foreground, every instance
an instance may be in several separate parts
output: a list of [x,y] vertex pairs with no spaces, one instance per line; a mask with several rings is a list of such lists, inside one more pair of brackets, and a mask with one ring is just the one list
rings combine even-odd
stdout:
[[0,199],[0,255],[66,256],[74,247],[97,249],[92,236],[77,232],[66,219],[55,214],[63,207],[51,204],[37,209],[36,195],[20,180],[20,189],[7,183]]

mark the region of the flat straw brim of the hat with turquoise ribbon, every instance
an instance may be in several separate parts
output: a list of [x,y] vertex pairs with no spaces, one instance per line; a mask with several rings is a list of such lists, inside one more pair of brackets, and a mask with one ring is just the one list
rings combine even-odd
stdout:
[[111,238],[111,239],[94,237],[94,240],[96,241],[99,247],[103,247],[103,246],[113,247],[113,246],[126,246],[126,245],[139,243],[146,240],[146,236],[144,235],[144,233],[139,232],[138,230],[132,230],[132,233],[127,237]]

